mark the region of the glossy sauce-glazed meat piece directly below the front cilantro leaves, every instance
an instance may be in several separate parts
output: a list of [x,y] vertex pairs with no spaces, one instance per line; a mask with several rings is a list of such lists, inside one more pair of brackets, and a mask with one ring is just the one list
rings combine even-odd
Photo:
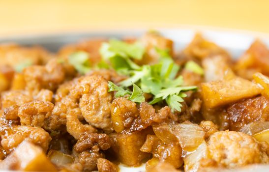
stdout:
[[111,120],[114,130],[117,133],[123,130],[140,131],[147,128],[151,123],[161,123],[173,117],[171,109],[166,106],[158,113],[146,102],[142,102],[139,108],[136,103],[124,98],[116,98],[111,104]]

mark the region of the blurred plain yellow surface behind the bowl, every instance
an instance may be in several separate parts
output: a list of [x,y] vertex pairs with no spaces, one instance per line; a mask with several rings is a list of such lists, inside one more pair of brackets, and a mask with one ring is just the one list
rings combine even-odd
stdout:
[[269,33],[269,0],[0,0],[1,37],[189,25]]

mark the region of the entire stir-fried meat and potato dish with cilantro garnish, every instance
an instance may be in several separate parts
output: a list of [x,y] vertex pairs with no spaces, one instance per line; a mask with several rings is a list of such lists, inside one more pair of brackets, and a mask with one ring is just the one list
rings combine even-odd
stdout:
[[174,46],[156,31],[58,53],[0,45],[0,170],[269,164],[268,47],[236,59],[201,34]]

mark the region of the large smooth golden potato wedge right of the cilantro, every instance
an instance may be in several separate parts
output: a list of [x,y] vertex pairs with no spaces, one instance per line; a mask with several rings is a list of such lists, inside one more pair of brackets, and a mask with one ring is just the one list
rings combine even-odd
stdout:
[[202,84],[202,95],[207,108],[216,108],[253,97],[261,91],[261,87],[240,77]]

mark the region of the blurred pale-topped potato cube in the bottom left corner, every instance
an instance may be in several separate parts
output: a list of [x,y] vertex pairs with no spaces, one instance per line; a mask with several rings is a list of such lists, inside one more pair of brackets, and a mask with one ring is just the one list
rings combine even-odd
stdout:
[[0,162],[0,170],[57,171],[42,149],[27,141],[22,142]]

